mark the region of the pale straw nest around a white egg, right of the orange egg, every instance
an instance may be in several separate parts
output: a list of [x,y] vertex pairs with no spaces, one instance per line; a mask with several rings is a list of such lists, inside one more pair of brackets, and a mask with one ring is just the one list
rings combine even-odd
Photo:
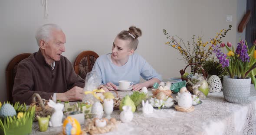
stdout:
[[89,132],[90,135],[95,135],[95,134],[103,134],[107,132],[111,132],[114,129],[116,129],[116,125],[120,123],[120,121],[116,121],[115,118],[111,118],[109,121],[106,118],[103,118],[107,121],[107,125],[105,127],[96,127],[95,126],[95,121],[98,118],[94,119],[87,119],[85,129],[83,129],[83,133]]

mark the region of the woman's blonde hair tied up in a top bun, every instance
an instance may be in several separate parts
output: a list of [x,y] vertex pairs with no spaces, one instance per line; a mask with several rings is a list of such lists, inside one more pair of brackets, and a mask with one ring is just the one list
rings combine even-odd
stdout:
[[129,47],[136,50],[139,44],[138,37],[142,35],[141,29],[135,26],[129,27],[129,30],[123,30],[118,33],[117,37],[121,40],[130,40]]

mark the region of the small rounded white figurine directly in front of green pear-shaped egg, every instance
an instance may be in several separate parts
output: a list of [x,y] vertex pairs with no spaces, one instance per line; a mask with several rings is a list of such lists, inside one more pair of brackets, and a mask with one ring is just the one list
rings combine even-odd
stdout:
[[124,123],[131,122],[131,120],[133,118],[133,113],[131,112],[131,107],[123,106],[122,109],[123,109],[123,111],[120,113],[121,122],[124,122]]

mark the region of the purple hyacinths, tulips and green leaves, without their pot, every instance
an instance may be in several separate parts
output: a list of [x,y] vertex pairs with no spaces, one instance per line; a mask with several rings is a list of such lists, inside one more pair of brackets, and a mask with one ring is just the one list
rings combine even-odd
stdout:
[[[246,41],[241,40],[237,43],[236,50],[234,47],[231,48],[231,43],[227,42],[225,45],[222,42],[214,47],[214,52],[220,61],[222,67],[226,69],[226,72],[230,75],[230,78],[245,79],[246,77],[251,77],[254,86],[256,87],[256,41],[254,45],[249,49]],[[224,47],[228,51],[225,53]],[[221,51],[223,48],[223,51]]]

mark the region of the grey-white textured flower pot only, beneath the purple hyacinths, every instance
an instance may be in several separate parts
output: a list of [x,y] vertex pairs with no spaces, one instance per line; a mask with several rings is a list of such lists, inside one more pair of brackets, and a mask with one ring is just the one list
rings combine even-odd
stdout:
[[250,95],[251,78],[234,79],[223,77],[223,96],[231,103],[246,103]]

